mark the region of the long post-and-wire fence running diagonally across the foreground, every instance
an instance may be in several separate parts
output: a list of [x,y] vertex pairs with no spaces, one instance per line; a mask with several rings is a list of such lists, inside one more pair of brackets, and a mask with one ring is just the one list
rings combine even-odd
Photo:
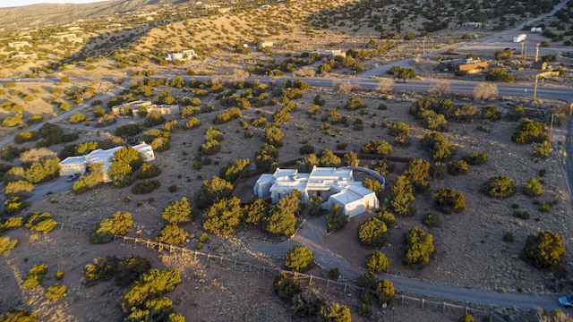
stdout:
[[[73,231],[79,231],[80,233],[89,232],[90,230],[76,225],[65,225],[58,223],[60,230],[64,228]],[[289,275],[295,280],[302,284],[308,286],[313,286],[314,288],[322,288],[326,292],[340,292],[346,295],[348,292],[372,292],[364,287],[357,286],[353,282],[348,280],[333,280],[330,278],[323,278],[321,276],[307,275],[304,273],[293,272],[289,270],[284,270],[279,267],[269,267],[259,264],[254,264],[251,262],[241,261],[234,258],[226,258],[223,256],[213,255],[210,253],[204,253],[198,250],[189,250],[184,247],[178,247],[174,245],[169,245],[163,242],[153,242],[147,239],[135,238],[122,235],[114,235],[114,242],[124,242],[133,243],[133,245],[141,244],[145,245],[150,250],[156,251],[168,251],[170,254],[182,254],[188,258],[192,258],[196,261],[203,261],[206,265],[211,263],[216,263],[220,267],[226,267],[237,271],[247,272],[249,274],[262,274],[268,277],[274,277],[275,275],[280,275],[281,273]],[[399,290],[398,290],[399,292]],[[424,298],[418,298],[409,296],[406,294],[397,294],[394,296],[394,304],[410,307],[416,306],[418,309],[432,310],[434,312],[439,312],[450,317],[461,317],[463,314],[467,313],[472,315],[474,318],[487,319],[490,322],[506,321],[501,318],[492,309],[477,309],[471,308],[468,305],[462,306],[454,303],[449,303],[446,301],[432,301]]]

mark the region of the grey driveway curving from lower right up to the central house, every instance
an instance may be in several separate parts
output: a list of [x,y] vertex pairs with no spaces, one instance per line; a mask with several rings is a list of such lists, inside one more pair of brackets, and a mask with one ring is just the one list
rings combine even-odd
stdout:
[[[360,267],[351,266],[344,258],[339,257],[335,251],[329,250],[323,243],[323,234],[326,231],[325,216],[313,217],[306,220],[295,236],[286,242],[268,243],[252,242],[247,247],[252,251],[261,252],[273,258],[283,258],[286,251],[294,245],[308,247],[314,253],[314,260],[326,269],[338,267],[340,274],[349,279],[356,279],[366,271]],[[444,284],[405,278],[397,275],[379,275],[392,281],[397,290],[414,292],[423,296],[433,296],[440,299],[451,299],[480,303],[508,308],[536,309],[543,308],[548,311],[560,309],[556,296],[529,296],[525,294],[508,294],[500,292],[484,292],[454,287]]]

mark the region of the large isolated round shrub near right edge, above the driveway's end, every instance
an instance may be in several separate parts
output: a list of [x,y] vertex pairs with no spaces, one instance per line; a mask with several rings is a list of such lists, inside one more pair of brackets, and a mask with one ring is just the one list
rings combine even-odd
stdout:
[[564,254],[563,237],[559,233],[541,232],[527,236],[521,257],[537,268],[548,268],[557,266]]

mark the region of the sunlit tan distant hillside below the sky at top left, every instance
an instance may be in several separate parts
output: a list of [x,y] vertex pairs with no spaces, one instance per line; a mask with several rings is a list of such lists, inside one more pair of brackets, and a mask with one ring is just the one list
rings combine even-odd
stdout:
[[4,30],[63,25],[79,19],[97,19],[115,13],[152,11],[164,4],[182,4],[181,0],[112,0],[94,4],[32,4],[0,8],[0,26]]

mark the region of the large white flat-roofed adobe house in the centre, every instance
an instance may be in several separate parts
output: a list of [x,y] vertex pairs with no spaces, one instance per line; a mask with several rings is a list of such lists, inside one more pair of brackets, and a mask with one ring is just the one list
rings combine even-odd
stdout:
[[350,217],[380,207],[374,191],[364,188],[362,182],[355,182],[352,168],[314,166],[310,174],[278,168],[274,174],[261,174],[253,187],[259,198],[270,194],[272,203],[294,190],[301,191],[301,202],[308,202],[311,196],[321,196],[327,200],[322,208],[329,209],[338,204]]

